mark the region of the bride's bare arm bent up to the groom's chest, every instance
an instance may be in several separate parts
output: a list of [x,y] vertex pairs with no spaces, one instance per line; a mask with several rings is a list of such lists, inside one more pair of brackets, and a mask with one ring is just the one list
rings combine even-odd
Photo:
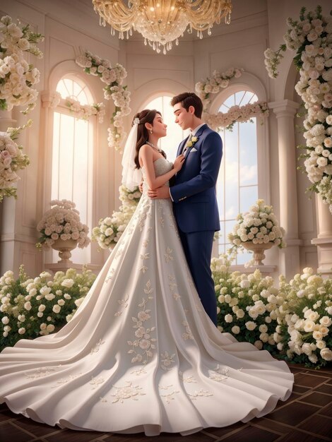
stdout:
[[139,157],[143,162],[143,167],[146,170],[146,182],[150,189],[157,189],[163,186],[169,179],[174,177],[174,175],[179,172],[184,161],[184,155],[179,155],[174,161],[173,169],[166,174],[160,175],[160,177],[155,176],[155,168],[153,167],[153,150],[149,145],[145,144],[141,147],[139,151]]

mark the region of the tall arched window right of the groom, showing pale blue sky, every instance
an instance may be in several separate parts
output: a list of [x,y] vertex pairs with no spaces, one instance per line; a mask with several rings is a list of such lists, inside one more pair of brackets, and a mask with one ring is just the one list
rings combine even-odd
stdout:
[[[227,97],[218,111],[226,113],[232,106],[244,106],[257,100],[254,92],[240,90]],[[217,184],[221,234],[218,253],[230,248],[227,235],[232,232],[238,213],[249,210],[258,198],[256,118],[251,120],[236,122],[232,131],[219,132],[223,138],[223,162]],[[238,253],[235,264],[244,264],[250,258],[249,253]]]

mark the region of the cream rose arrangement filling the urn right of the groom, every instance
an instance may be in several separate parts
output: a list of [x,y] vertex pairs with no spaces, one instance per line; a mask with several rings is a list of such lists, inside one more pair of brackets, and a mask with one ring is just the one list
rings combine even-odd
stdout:
[[285,230],[279,227],[272,206],[265,205],[264,200],[257,200],[249,212],[237,215],[237,224],[233,232],[228,234],[228,239],[235,247],[241,246],[242,242],[252,241],[254,244],[273,242],[281,249],[285,247],[284,234]]

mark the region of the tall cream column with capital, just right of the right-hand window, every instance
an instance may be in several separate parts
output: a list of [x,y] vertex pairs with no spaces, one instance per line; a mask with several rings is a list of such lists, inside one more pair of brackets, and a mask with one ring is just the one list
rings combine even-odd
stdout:
[[285,229],[287,247],[279,253],[279,270],[290,278],[300,271],[299,246],[302,241],[298,234],[296,146],[294,117],[299,104],[290,100],[271,102],[278,121],[278,156],[280,190],[280,225]]

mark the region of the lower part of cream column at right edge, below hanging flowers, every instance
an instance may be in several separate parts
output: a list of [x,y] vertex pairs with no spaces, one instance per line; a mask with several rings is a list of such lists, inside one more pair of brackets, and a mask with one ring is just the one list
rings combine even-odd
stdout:
[[332,275],[332,214],[328,204],[324,204],[319,195],[316,196],[317,238],[312,244],[317,246],[318,269],[323,275]]

